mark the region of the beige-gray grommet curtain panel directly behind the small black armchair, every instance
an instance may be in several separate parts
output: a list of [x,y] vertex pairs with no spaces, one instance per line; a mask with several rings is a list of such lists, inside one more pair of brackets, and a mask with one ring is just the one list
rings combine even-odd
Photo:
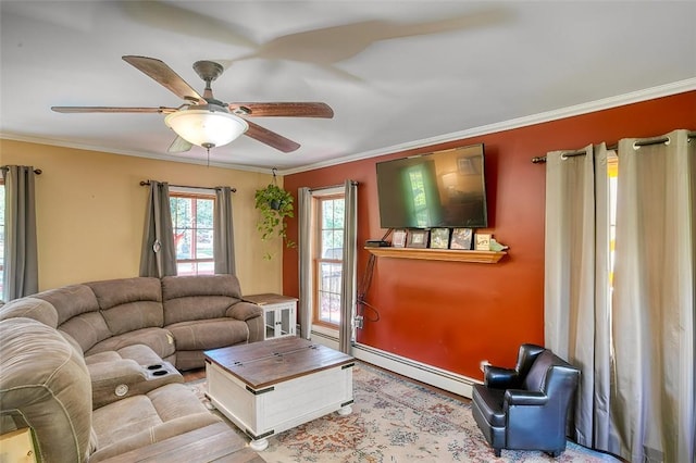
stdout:
[[605,145],[546,155],[545,345],[582,368],[571,436],[608,450],[609,178]]

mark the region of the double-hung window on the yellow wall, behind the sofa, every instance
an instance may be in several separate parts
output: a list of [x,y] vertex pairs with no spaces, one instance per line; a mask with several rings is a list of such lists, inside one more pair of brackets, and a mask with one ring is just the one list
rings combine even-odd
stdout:
[[215,196],[170,191],[178,275],[212,275]]

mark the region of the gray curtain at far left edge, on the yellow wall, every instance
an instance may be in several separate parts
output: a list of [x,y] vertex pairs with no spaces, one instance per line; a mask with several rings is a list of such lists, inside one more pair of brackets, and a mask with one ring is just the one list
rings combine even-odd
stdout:
[[4,177],[4,299],[38,292],[34,167],[8,165]]

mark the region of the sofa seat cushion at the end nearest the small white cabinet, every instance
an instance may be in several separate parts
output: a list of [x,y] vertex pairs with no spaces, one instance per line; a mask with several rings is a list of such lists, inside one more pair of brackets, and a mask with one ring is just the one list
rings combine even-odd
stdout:
[[177,351],[216,349],[249,339],[249,326],[227,317],[175,323],[166,328],[174,336]]

